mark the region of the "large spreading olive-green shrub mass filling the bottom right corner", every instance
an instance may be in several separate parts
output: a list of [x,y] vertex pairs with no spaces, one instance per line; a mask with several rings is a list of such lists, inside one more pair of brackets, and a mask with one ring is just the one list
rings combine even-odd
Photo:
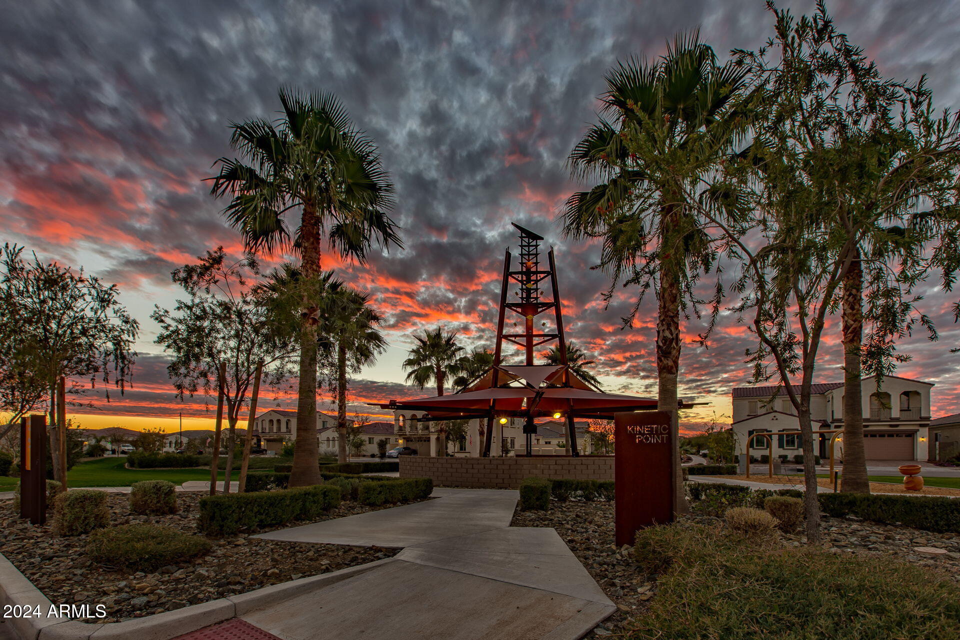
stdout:
[[633,621],[638,638],[957,635],[960,586],[923,567],[812,548],[738,548],[696,525],[650,527],[636,537],[638,563],[660,574],[657,597]]

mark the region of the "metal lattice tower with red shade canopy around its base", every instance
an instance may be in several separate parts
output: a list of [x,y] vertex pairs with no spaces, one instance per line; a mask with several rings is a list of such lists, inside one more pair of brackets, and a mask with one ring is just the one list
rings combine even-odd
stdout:
[[[493,366],[463,391],[411,400],[391,400],[379,406],[393,411],[424,412],[420,422],[485,419],[484,457],[490,456],[496,421],[505,424],[511,417],[523,418],[526,455],[532,456],[533,435],[537,433],[535,420],[539,417],[565,418],[570,443],[567,455],[577,456],[575,418],[612,419],[614,414],[620,412],[653,411],[657,409],[657,401],[600,391],[571,370],[566,361],[564,315],[553,249],[547,253],[547,264],[540,265],[540,242],[543,237],[520,225],[514,226],[520,233],[519,260],[515,267],[513,255],[507,249]],[[509,330],[506,329],[508,312],[516,319]],[[549,320],[552,320],[552,326]],[[522,352],[520,363],[504,362],[504,343],[515,344]],[[536,349],[551,343],[559,346],[560,364],[534,364]]]

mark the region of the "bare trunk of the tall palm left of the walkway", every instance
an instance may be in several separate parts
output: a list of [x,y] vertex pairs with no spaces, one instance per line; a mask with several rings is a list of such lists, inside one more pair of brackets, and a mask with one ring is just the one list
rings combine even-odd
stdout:
[[[320,227],[317,210],[304,204],[300,221],[301,268],[303,275],[314,281],[320,273]],[[303,308],[310,301],[303,300]],[[297,436],[293,470],[289,486],[319,485],[319,443],[317,441],[317,326],[304,319],[300,327],[300,384],[297,397]]]

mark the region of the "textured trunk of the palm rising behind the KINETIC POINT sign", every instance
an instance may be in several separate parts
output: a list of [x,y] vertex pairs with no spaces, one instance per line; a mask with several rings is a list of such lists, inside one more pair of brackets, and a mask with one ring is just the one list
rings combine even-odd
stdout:
[[676,207],[664,210],[663,231],[660,236],[660,294],[657,309],[657,410],[674,415],[671,437],[671,459],[674,470],[674,504],[678,514],[686,513],[684,471],[680,457],[680,422],[677,419],[677,378],[680,371],[680,269],[669,236],[678,225]]

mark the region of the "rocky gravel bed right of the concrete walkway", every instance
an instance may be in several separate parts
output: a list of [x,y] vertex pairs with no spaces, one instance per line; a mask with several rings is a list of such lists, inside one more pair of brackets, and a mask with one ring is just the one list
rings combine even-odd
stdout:
[[[719,524],[718,518],[690,515],[703,524]],[[628,635],[630,620],[642,615],[647,601],[656,597],[657,582],[636,569],[632,549],[613,544],[613,503],[552,502],[548,511],[516,511],[514,527],[553,527],[573,554],[616,604],[617,610],[587,637]],[[823,546],[836,554],[887,554],[935,571],[947,572],[960,581],[960,534],[930,533],[916,529],[878,525],[846,518],[822,520]],[[801,534],[781,534],[784,546],[804,544]],[[918,551],[942,550],[943,554]]]

